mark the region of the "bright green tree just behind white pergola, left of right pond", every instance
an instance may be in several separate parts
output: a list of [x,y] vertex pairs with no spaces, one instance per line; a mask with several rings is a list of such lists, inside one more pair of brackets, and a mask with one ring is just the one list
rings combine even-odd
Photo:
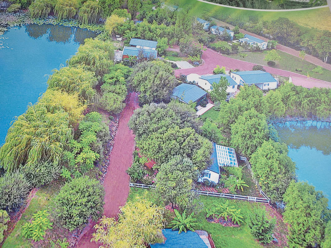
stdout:
[[243,155],[251,156],[268,139],[268,133],[265,115],[252,108],[240,115],[231,125],[231,145]]

